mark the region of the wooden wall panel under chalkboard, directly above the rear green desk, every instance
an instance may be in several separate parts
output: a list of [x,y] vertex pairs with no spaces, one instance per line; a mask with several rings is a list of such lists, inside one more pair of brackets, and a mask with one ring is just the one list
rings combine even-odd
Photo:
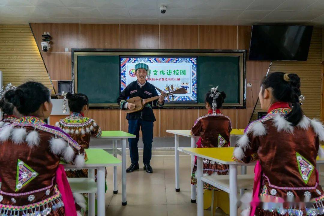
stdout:
[[120,112],[112,109],[89,109],[87,117],[94,119],[104,131],[119,131]]

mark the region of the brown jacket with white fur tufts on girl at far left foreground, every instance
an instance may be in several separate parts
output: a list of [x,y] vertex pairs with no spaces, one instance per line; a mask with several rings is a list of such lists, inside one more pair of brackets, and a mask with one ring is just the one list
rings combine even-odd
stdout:
[[0,129],[0,214],[65,215],[56,186],[60,158],[81,167],[84,149],[60,128],[25,116]]

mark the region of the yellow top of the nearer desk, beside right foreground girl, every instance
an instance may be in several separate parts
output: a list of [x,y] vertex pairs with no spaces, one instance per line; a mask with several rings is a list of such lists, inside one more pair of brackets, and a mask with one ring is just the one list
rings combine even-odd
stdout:
[[[324,146],[321,146],[322,148]],[[180,147],[179,151],[187,153],[189,155],[194,155],[197,157],[203,157],[212,161],[216,161],[222,164],[242,164],[232,159],[234,147],[227,148],[187,148]],[[317,163],[324,163],[324,158],[316,159]],[[250,163],[248,165],[253,165],[255,163]]]

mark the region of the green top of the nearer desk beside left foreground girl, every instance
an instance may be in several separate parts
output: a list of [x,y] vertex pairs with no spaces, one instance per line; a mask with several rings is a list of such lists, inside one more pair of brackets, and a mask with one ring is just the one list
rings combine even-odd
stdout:
[[[113,155],[110,155],[103,149],[90,148],[85,149],[88,160],[84,167],[107,167],[121,165],[121,160],[117,159]],[[61,161],[60,164],[64,164],[64,167],[74,167],[74,165],[66,164]]]

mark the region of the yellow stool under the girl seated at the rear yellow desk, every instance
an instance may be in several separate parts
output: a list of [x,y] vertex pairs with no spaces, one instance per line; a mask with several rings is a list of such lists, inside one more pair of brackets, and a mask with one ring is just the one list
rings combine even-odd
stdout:
[[[212,205],[214,195],[214,203]],[[203,194],[203,208],[208,209],[209,207],[212,207],[211,210],[213,210],[213,214],[215,214],[215,211],[217,207],[221,208],[226,214],[229,215],[229,196],[228,193],[224,191],[214,191],[214,190],[204,190]]]

